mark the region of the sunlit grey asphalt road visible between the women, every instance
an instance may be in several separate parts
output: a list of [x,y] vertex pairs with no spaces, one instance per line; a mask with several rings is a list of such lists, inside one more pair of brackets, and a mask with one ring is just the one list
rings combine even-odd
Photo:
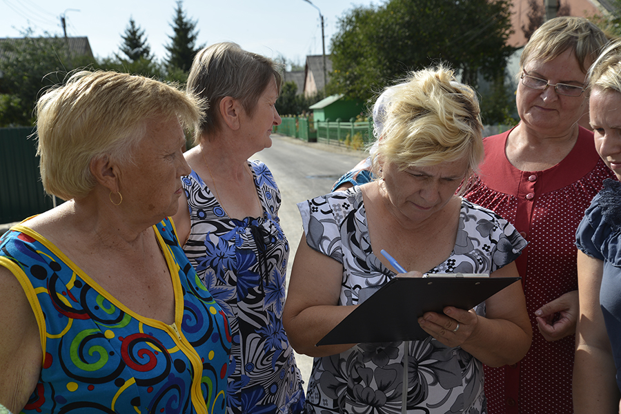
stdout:
[[[337,178],[366,158],[367,154],[333,145],[304,143],[278,134],[272,134],[272,141],[272,147],[257,152],[250,159],[266,163],[282,195],[278,216],[291,247],[288,282],[295,251],[302,236],[302,220],[296,204],[330,192]],[[295,358],[306,388],[313,358],[297,353]]]

